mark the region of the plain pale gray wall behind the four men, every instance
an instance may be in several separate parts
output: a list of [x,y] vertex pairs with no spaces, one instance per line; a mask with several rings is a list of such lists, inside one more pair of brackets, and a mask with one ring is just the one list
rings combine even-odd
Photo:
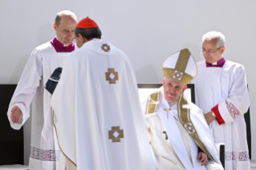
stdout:
[[[246,67],[250,87],[252,158],[256,159],[254,0],[1,0],[0,83],[18,83],[30,52],[54,38],[52,23],[60,10],[71,10],[79,20],[94,19],[103,39],[123,50],[132,61],[138,83],[161,83],[165,58],[189,48],[199,54],[201,36],[209,30],[226,35],[226,59]],[[30,119],[25,124],[25,163],[30,153]]]

